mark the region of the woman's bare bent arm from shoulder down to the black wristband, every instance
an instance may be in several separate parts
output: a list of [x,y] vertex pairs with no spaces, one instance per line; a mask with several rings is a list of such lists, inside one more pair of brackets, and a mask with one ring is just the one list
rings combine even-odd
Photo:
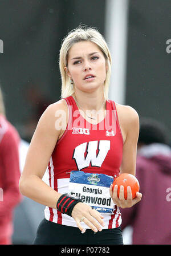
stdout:
[[19,190],[23,196],[54,209],[56,209],[56,202],[61,194],[42,181],[42,177],[62,131],[56,125],[59,119],[62,119],[61,116],[55,116],[56,111],[66,112],[66,107],[61,101],[49,105],[40,117],[19,181]]

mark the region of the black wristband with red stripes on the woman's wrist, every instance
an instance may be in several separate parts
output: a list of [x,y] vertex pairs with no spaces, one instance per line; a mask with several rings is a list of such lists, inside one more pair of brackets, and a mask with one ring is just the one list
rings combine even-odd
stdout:
[[78,202],[82,202],[82,200],[68,197],[67,194],[62,194],[62,196],[60,196],[58,199],[56,208],[59,210],[59,212],[71,216],[72,210],[74,206],[78,204]]

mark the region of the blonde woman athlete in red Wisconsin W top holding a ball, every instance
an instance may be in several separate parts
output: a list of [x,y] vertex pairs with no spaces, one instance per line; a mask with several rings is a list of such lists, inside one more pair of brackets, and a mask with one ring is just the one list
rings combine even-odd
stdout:
[[[128,188],[124,200],[111,184],[120,172],[135,175],[139,116],[108,100],[111,55],[96,29],[72,30],[59,65],[62,99],[40,117],[19,182],[23,195],[46,205],[34,243],[122,244],[119,206],[141,193],[132,200]],[[50,186],[42,181],[47,166]]]

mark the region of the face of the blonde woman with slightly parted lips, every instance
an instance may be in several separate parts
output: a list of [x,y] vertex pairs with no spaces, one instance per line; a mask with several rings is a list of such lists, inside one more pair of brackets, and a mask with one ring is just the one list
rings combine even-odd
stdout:
[[82,41],[70,48],[66,72],[74,81],[75,90],[92,92],[103,87],[106,71],[103,52],[95,43]]

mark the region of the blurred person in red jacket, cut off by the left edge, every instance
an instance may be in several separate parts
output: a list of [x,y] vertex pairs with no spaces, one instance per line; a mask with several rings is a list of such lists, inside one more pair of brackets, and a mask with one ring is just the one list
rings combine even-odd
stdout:
[[20,141],[17,129],[6,117],[0,87],[0,245],[13,243],[14,209],[22,200],[18,189]]

